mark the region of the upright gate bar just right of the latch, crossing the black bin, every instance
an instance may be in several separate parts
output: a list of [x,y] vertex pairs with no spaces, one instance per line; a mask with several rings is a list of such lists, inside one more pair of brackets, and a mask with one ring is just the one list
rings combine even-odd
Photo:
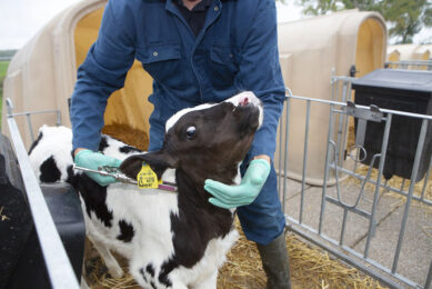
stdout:
[[392,114],[389,113],[385,120],[385,128],[384,128],[384,137],[382,140],[382,146],[381,146],[381,156],[380,156],[380,165],[378,169],[378,177],[376,177],[376,185],[375,185],[375,193],[373,197],[373,205],[372,205],[372,212],[371,212],[371,219],[369,222],[369,231],[368,231],[368,239],[366,239],[366,245],[364,248],[364,258],[368,258],[369,253],[369,247],[371,245],[371,239],[372,236],[374,236],[375,232],[375,212],[376,212],[376,205],[378,205],[378,199],[380,196],[380,188],[381,188],[381,179],[382,179],[382,171],[384,169],[384,162],[385,162],[385,155],[386,155],[386,147],[389,143],[389,136],[390,136],[390,127],[392,122]]

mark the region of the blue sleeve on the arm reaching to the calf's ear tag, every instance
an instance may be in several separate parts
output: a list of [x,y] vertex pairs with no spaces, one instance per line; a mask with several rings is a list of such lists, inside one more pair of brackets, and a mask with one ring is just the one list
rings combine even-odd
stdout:
[[132,13],[124,1],[110,0],[97,41],[79,67],[72,93],[73,149],[98,150],[103,113],[111,93],[124,86],[134,59]]

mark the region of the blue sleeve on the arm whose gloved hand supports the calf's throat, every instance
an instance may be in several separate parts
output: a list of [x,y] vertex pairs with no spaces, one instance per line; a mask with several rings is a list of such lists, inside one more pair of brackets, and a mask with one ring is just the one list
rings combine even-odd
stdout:
[[279,118],[284,101],[284,84],[279,64],[277,14],[273,0],[260,0],[252,26],[241,48],[237,87],[253,91],[264,107],[264,120],[257,131],[251,156],[273,158]]

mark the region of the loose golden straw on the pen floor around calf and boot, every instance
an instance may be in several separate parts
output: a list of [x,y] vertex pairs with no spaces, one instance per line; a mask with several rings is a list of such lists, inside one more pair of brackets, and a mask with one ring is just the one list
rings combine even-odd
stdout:
[[[239,221],[235,226],[241,237],[232,250],[228,253],[225,265],[219,270],[219,289],[263,289],[267,277],[261,266],[255,245],[248,241],[241,231]],[[369,276],[350,268],[341,261],[330,257],[317,247],[307,245],[292,233],[287,235],[287,248],[290,258],[292,288],[385,288]],[[120,263],[128,272],[127,262],[120,259]],[[107,273],[102,261],[93,258],[86,262],[87,281],[92,289],[106,288],[140,288],[127,273],[123,278],[111,278]]]

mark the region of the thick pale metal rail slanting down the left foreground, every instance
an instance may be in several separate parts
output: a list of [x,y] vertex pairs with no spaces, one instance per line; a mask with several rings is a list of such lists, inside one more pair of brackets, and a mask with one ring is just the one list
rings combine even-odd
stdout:
[[[7,101],[7,104],[8,103],[11,103],[10,100]],[[11,108],[8,107],[8,110],[10,111]],[[19,133],[17,122],[11,116],[8,117],[8,126],[18,162],[21,168],[22,179],[26,180],[26,192],[51,285],[56,289],[77,289],[79,288],[78,280],[31,168],[29,156],[27,155]]]

